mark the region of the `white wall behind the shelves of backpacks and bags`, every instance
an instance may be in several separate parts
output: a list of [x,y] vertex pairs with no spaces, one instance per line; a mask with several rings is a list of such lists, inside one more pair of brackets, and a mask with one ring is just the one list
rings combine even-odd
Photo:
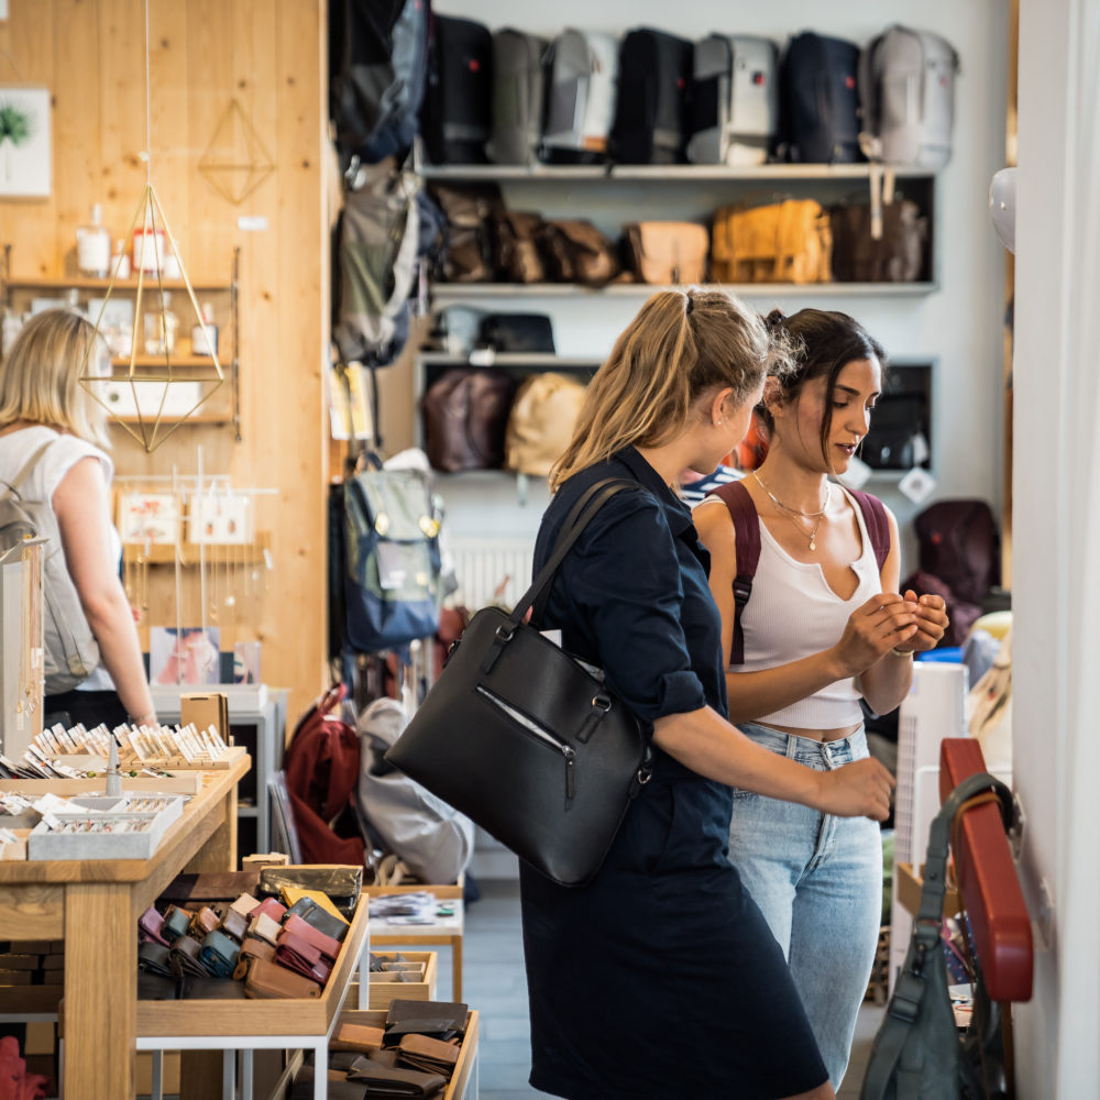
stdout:
[[[754,299],[754,304],[758,308],[780,305],[789,312],[806,305],[846,309],[898,359],[937,356],[937,496],[981,496],[1000,506],[1003,253],[990,230],[986,204],[990,177],[1003,165],[1004,155],[1008,30],[1002,0],[882,0],[873,6],[859,0],[834,0],[828,6],[810,0],[738,6],[703,0],[674,8],[667,0],[604,0],[598,9],[591,0],[559,0],[548,6],[436,0],[433,9],[479,20],[491,29],[516,25],[546,35],[569,25],[619,34],[632,26],[651,25],[692,38],[716,30],[766,34],[782,44],[791,33],[815,30],[862,44],[891,22],[900,22],[937,31],[952,42],[961,58],[961,76],[955,154],[937,194],[941,289],[926,297],[831,297],[820,302],[812,296],[765,297]],[[666,217],[675,213],[669,211]],[[624,210],[620,220],[629,219],[630,211]],[[550,312],[558,350],[587,354],[606,352],[638,304],[636,299],[590,296],[566,302],[512,299],[501,308]],[[514,487],[499,487],[491,504],[486,504],[484,485],[475,491],[454,483],[442,487],[451,502],[452,529],[458,534],[479,534],[486,521],[515,525],[517,531],[535,530],[539,504],[544,501],[544,495],[536,495],[528,507],[517,508]],[[871,487],[902,521],[919,510],[889,483],[877,482]],[[912,552],[906,554],[906,568],[910,563],[915,568],[912,557]]]

